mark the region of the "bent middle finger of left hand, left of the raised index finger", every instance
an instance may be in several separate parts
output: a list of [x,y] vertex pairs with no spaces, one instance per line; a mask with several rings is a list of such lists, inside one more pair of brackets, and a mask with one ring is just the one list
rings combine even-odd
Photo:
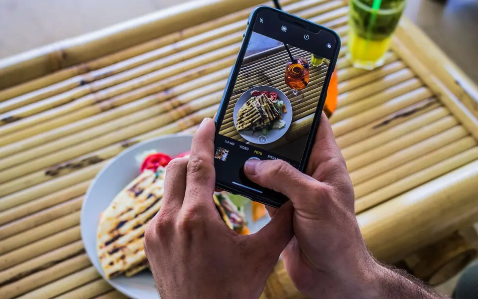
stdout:
[[172,159],[166,167],[164,179],[164,193],[161,210],[164,212],[177,212],[181,208],[186,192],[186,167],[188,158]]

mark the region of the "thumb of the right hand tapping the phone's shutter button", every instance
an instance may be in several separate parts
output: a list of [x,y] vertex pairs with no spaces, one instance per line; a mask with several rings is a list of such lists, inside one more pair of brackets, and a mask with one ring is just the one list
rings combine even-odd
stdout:
[[315,182],[282,160],[249,159],[244,164],[244,173],[251,181],[282,193],[292,201],[304,197],[303,194],[310,192]]

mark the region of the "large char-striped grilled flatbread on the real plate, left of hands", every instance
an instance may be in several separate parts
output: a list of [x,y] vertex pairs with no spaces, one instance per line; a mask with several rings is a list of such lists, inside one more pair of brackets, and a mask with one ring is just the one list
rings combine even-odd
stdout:
[[164,175],[163,167],[156,172],[144,171],[103,212],[97,249],[108,278],[128,272],[144,261],[144,231],[161,207]]

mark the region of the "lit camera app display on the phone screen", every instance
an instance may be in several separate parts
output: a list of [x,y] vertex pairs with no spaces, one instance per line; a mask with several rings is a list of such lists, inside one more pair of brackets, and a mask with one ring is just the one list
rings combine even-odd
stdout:
[[[219,181],[259,193],[258,186],[251,187],[240,174],[244,162],[282,159],[299,167],[330,64],[310,49],[266,36],[262,24],[256,23],[249,39],[216,137],[215,155]],[[285,37],[291,29],[277,29],[274,37],[283,34],[290,42]],[[302,35],[306,43],[310,36]]]

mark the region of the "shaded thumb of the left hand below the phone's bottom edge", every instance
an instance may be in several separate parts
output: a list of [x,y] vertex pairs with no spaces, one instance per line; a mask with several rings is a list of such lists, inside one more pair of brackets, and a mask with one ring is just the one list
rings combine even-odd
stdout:
[[284,203],[263,228],[250,235],[257,248],[264,248],[267,256],[277,258],[294,236],[292,215],[294,208],[290,201]]

